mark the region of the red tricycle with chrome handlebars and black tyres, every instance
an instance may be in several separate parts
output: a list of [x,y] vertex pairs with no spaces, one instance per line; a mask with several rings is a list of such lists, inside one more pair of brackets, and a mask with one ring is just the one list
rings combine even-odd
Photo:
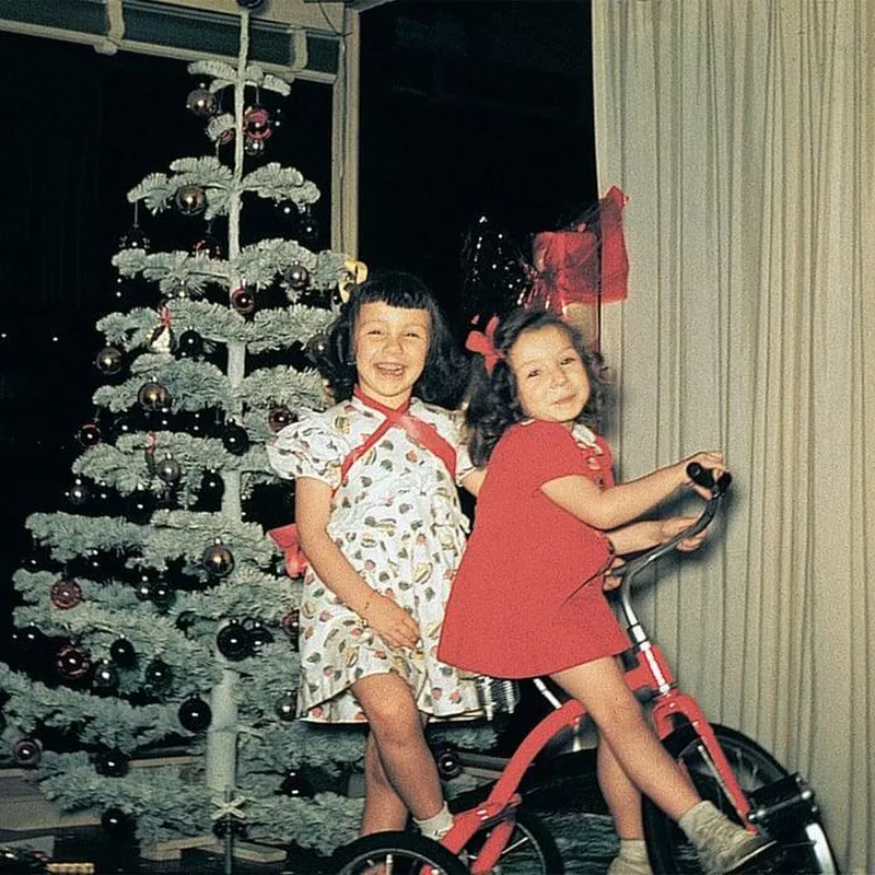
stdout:
[[[632,608],[632,580],[680,540],[702,532],[714,518],[732,480],[724,474],[714,481],[709,470],[695,464],[688,472],[711,494],[696,523],[612,572],[621,579],[615,596],[632,643],[623,654],[627,682],[649,705],[657,735],[686,768],[702,798],[778,841],[769,859],[770,872],[835,875],[838,868],[810,788],[752,739],[708,722],[696,700],[679,689],[665,656]],[[564,866],[557,844],[526,800],[542,793],[560,775],[565,782],[580,781],[595,789],[595,760],[586,751],[573,751],[536,761],[551,739],[576,728],[585,712],[574,699],[562,701],[542,679],[536,679],[535,686],[551,710],[510,758],[454,749],[439,756],[444,775],[471,763],[480,769],[486,763],[499,773],[471,804],[455,812],[453,828],[440,843],[406,831],[365,836],[338,850],[336,871],[342,875],[561,875]],[[481,702],[488,718],[513,708],[518,699],[515,681],[481,679]],[[466,798],[471,797],[466,794]],[[653,872],[700,873],[696,851],[679,827],[648,798],[643,806]]]

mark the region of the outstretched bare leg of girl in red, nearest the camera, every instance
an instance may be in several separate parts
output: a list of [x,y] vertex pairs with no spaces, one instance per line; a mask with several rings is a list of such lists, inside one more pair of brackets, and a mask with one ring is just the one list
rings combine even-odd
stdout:
[[612,656],[594,660],[552,675],[590,712],[602,744],[631,782],[669,817],[678,820],[699,795],[644,721],[635,698]]

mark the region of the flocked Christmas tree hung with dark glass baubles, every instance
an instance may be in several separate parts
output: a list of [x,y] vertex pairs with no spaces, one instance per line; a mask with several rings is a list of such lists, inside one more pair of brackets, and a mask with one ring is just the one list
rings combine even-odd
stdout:
[[[290,522],[292,502],[264,444],[325,406],[306,349],[357,265],[308,248],[319,192],[269,161],[271,101],[290,85],[248,63],[247,5],[236,65],[189,67],[208,154],[128,192],[133,226],[113,264],[148,305],[97,324],[102,385],[68,506],[27,521],[0,731],[60,808],[93,810],[117,836],[325,853],[358,829],[346,789],[364,736],[294,719],[300,581],[261,514]],[[296,217],[295,238],[248,240],[258,199]],[[152,250],[140,220],[163,211],[188,217],[196,242]]]

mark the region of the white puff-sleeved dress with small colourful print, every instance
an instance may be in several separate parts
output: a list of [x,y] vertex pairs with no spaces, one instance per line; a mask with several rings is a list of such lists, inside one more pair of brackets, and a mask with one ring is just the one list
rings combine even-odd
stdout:
[[[413,398],[408,412],[460,448],[448,411]],[[413,617],[420,632],[415,651],[388,646],[308,568],[301,602],[298,693],[299,714],[305,720],[364,722],[349,687],[368,675],[389,672],[408,682],[424,713],[444,718],[478,710],[470,676],[459,676],[436,655],[444,606],[468,528],[446,466],[396,425],[354,462],[347,481],[340,481],[343,460],[384,418],[353,397],[287,425],[267,447],[280,476],[313,477],[335,490],[329,537],[370,586]],[[466,457],[458,453],[456,478],[468,470],[459,470]]]

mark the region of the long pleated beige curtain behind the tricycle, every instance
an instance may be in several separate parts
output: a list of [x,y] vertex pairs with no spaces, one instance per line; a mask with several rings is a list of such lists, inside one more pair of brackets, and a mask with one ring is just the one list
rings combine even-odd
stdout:
[[643,594],[684,685],[875,872],[875,2],[593,0],[623,477],[723,447],[732,505]]

